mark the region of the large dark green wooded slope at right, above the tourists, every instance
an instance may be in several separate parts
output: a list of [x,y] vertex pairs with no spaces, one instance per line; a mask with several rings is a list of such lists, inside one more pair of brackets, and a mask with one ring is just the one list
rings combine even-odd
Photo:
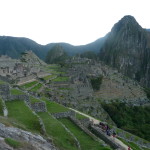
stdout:
[[119,128],[150,141],[150,107],[102,104]]

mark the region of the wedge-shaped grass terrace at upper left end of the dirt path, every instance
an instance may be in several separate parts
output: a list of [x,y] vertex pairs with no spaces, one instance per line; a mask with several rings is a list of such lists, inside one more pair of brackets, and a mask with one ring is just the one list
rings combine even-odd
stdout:
[[41,100],[46,102],[47,110],[50,113],[70,111],[68,108],[64,107],[63,105],[60,105],[60,104],[55,103],[55,102],[51,102],[51,101],[49,101],[48,99],[46,99],[44,97]]

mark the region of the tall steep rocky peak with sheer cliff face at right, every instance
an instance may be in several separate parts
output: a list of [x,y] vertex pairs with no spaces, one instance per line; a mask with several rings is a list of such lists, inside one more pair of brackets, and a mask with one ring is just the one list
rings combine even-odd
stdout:
[[150,32],[132,16],[123,17],[108,33],[100,59],[150,87]]

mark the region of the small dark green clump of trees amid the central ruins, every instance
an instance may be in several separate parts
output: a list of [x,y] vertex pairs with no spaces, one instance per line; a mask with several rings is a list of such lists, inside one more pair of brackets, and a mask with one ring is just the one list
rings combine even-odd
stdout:
[[91,84],[94,90],[99,90],[100,89],[100,85],[102,84],[102,79],[103,76],[100,75],[99,77],[92,77],[91,80]]

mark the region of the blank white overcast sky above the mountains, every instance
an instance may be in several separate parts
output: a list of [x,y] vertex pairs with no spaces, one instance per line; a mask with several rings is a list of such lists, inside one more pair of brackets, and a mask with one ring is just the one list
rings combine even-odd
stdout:
[[125,15],[150,28],[149,0],[0,0],[0,36],[84,45]]

